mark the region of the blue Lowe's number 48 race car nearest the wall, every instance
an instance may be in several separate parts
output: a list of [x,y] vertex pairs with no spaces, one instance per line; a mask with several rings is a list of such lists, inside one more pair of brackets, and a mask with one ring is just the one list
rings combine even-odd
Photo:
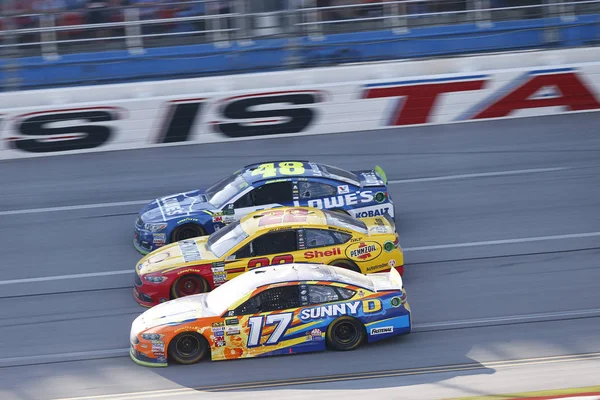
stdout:
[[383,169],[346,171],[309,161],[270,161],[245,166],[206,190],[152,201],[135,222],[133,243],[147,254],[167,243],[209,235],[253,211],[307,206],[356,218],[394,218]]

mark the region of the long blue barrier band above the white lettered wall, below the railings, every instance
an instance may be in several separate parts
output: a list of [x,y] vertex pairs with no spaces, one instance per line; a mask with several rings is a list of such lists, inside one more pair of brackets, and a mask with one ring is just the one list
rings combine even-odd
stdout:
[[[549,28],[556,29],[556,42],[547,41],[545,32]],[[391,31],[334,34],[321,41],[304,37],[295,55],[300,66],[314,67],[340,62],[570,47],[597,44],[599,39],[600,15],[584,15],[569,22],[544,18],[497,22],[485,28],[459,24],[415,28],[403,34]],[[232,43],[228,48],[213,44],[153,48],[143,55],[105,51],[64,55],[57,61],[27,57],[19,59],[18,74],[22,89],[35,89],[274,71],[285,68],[284,62],[291,55],[286,45],[287,40],[268,39],[251,46]],[[3,63],[0,62],[0,68]],[[2,86],[4,79],[1,72]]]

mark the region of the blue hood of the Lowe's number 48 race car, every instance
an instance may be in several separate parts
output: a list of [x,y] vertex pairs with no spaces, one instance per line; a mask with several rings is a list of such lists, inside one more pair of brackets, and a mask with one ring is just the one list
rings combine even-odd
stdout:
[[212,209],[214,207],[206,201],[204,191],[193,190],[153,200],[140,212],[140,217],[144,223],[164,222]]

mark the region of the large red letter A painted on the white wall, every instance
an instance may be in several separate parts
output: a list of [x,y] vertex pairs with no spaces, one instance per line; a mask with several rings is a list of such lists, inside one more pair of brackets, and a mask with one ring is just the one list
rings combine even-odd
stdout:
[[[558,95],[532,98],[545,88],[555,89]],[[578,111],[598,109],[600,103],[575,72],[532,75],[523,85],[501,97],[472,119],[505,117],[515,110],[552,106],[564,106],[569,111]]]

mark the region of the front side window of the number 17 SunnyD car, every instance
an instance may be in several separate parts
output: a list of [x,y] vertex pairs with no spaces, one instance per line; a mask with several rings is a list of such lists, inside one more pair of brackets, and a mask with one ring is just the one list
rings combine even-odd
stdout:
[[287,310],[300,307],[300,289],[297,285],[267,289],[238,306],[235,315]]

